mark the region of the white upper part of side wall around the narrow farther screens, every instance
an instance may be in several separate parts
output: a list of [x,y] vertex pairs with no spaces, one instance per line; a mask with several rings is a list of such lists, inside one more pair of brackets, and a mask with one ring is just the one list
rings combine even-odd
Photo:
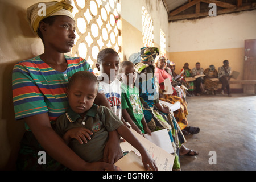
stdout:
[[166,34],[168,51],[168,14],[162,0],[121,0],[122,18],[142,32],[142,6],[146,7],[154,25],[154,42],[160,45],[160,28]]

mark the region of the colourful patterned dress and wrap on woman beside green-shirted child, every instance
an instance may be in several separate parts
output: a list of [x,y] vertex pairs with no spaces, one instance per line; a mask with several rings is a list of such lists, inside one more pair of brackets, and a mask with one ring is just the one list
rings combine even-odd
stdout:
[[[171,114],[162,113],[154,104],[159,102],[158,97],[158,84],[154,75],[154,66],[138,63],[135,64],[135,69],[139,73],[137,77],[137,81],[139,82],[139,92],[141,97],[141,102],[143,105],[143,114],[146,119],[148,128],[151,131],[167,129],[172,147],[174,148],[175,155],[175,169],[180,168],[179,157],[176,152],[179,150],[181,144],[185,143],[185,137],[177,124],[175,117]],[[143,74],[144,79],[139,79],[139,77]],[[143,80],[143,81],[142,81]],[[144,84],[144,85],[143,85]],[[149,86],[147,86],[150,84]],[[136,85],[136,82],[135,82]],[[151,92],[151,90],[147,90],[150,88],[155,90],[156,93]],[[150,91],[150,92],[149,92]],[[153,99],[152,99],[153,98]]]

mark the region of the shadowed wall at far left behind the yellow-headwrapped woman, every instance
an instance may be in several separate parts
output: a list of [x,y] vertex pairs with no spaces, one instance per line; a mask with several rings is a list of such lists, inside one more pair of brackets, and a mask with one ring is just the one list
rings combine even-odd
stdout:
[[24,122],[15,121],[11,72],[16,62],[43,53],[43,44],[26,22],[26,9],[36,0],[0,0],[0,169],[14,169]]

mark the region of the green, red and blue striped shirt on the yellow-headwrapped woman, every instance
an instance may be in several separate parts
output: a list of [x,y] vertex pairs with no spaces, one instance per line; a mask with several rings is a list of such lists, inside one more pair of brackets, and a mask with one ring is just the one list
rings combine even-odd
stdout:
[[92,71],[85,59],[65,56],[68,67],[64,72],[49,67],[36,56],[20,61],[13,69],[13,104],[15,119],[47,113],[51,121],[68,108],[67,86],[78,71]]

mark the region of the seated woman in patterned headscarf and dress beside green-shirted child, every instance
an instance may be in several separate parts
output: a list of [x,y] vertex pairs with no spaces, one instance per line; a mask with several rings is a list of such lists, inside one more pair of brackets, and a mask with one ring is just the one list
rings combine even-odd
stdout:
[[167,129],[174,148],[174,170],[180,169],[180,154],[197,155],[196,151],[185,148],[185,138],[173,115],[170,114],[169,107],[159,102],[158,81],[155,77],[154,60],[159,55],[156,47],[141,48],[141,62],[135,64],[135,69],[139,74],[135,86],[139,88],[140,98],[143,105],[143,114],[151,131]]

